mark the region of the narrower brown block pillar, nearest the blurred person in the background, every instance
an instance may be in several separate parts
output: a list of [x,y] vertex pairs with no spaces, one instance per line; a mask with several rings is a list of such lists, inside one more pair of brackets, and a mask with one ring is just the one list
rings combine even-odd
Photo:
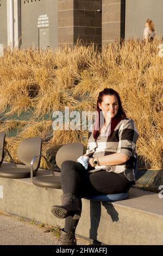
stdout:
[[102,43],[124,38],[125,0],[102,1]]

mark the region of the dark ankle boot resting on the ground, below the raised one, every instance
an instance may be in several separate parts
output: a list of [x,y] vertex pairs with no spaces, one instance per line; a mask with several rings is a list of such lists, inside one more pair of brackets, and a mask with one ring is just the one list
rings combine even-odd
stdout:
[[61,230],[58,245],[77,245],[75,233],[66,233],[64,229]]

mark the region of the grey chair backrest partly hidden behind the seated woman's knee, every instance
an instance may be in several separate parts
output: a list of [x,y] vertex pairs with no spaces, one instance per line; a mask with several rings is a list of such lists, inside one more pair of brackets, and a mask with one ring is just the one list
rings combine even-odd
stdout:
[[79,156],[84,154],[84,145],[82,143],[68,143],[62,146],[55,157],[55,161],[59,168],[62,162],[66,160],[77,161]]

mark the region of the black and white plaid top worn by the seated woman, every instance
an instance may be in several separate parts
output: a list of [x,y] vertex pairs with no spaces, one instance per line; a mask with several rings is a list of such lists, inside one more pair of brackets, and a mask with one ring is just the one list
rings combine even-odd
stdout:
[[94,150],[93,157],[122,153],[130,156],[129,160],[122,164],[109,166],[108,172],[122,173],[130,181],[135,180],[134,166],[136,159],[136,141],[139,137],[134,121],[130,118],[124,118],[117,124],[111,137],[105,137],[101,132],[97,140],[93,138],[93,132],[89,132],[88,149]]

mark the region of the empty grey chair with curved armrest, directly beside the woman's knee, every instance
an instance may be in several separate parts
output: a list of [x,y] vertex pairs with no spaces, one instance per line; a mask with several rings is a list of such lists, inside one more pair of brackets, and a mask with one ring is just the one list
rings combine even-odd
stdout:
[[[69,143],[62,146],[55,157],[55,161],[57,162],[57,166],[60,168],[61,163],[66,160],[74,160],[77,161],[80,155],[83,155],[84,146],[82,143]],[[46,188],[61,188],[60,176],[56,176],[51,166],[49,165],[45,156],[40,155],[46,160],[48,169],[51,171],[51,175],[42,175],[36,176],[33,178],[33,164],[38,156],[35,156],[31,161],[31,179],[33,184],[39,187]]]

